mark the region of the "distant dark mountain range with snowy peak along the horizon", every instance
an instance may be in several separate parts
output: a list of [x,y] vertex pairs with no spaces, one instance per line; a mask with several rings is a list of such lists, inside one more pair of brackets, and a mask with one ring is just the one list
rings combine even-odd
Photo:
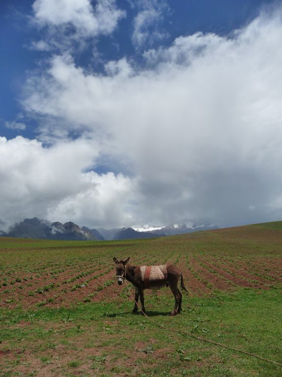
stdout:
[[217,229],[218,226],[208,220],[183,220],[178,224],[143,227],[143,228],[114,228],[89,229],[79,227],[73,222],[64,224],[56,221],[25,219],[13,225],[7,232],[0,231],[1,237],[35,238],[50,240],[133,240],[153,237],[172,236],[200,230]]

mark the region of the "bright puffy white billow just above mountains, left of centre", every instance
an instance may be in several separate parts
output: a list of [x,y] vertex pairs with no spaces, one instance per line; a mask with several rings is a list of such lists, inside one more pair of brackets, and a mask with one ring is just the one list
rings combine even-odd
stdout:
[[88,226],[114,227],[131,225],[132,208],[128,208],[133,197],[134,182],[123,174],[97,174],[89,171],[83,174],[85,190],[67,196],[58,205],[50,207],[48,218],[61,221],[74,219]]

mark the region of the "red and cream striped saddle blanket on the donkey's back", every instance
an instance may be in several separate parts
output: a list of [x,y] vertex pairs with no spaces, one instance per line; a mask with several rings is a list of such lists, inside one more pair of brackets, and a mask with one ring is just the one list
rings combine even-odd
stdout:
[[160,289],[166,285],[167,265],[141,266],[140,269],[144,288]]

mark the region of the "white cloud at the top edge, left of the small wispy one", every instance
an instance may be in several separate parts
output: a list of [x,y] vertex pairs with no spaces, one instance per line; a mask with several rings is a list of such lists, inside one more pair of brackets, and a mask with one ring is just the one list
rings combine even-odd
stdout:
[[41,51],[71,49],[74,42],[84,46],[85,38],[112,34],[120,19],[126,16],[115,0],[36,0],[33,22],[47,28],[47,42],[33,41],[31,48]]

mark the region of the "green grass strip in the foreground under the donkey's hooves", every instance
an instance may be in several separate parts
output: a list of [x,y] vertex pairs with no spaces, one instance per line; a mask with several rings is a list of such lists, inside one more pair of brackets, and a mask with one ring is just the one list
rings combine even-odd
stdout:
[[95,376],[107,370],[111,376],[115,360],[115,371],[131,374],[133,369],[132,376],[171,376],[171,371],[173,376],[279,376],[282,370],[275,365],[182,334],[192,333],[282,362],[278,290],[218,292],[189,302],[186,296],[186,310],[176,317],[168,315],[170,301],[157,296],[147,300],[150,318],[164,326],[163,330],[143,316],[132,315],[129,300],[69,309],[2,310],[0,341],[9,358],[2,360],[1,369],[15,373],[32,358],[62,376],[74,368],[81,373],[95,369]]

